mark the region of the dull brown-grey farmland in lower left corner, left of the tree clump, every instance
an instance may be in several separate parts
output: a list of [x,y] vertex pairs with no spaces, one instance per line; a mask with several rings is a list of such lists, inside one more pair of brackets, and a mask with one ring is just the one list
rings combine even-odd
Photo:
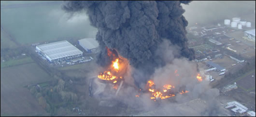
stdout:
[[47,113],[27,88],[28,84],[51,81],[35,63],[0,69],[1,116],[43,116]]

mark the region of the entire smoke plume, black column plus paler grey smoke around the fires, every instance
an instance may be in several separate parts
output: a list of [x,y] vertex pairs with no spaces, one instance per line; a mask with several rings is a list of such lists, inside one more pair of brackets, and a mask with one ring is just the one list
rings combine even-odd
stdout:
[[[188,25],[181,4],[190,1],[65,1],[62,8],[67,12],[86,12],[92,26],[97,27],[96,40],[101,52],[98,63],[101,66],[111,64],[106,47],[127,58],[129,67],[125,82],[144,88],[149,79],[156,87],[164,84],[175,86],[174,90],[185,88],[186,95],[175,96],[179,104],[201,98],[206,109],[198,116],[214,116],[218,113],[215,97],[218,89],[211,89],[208,81],[198,82],[198,68],[194,51],[188,48],[186,30]],[[179,76],[174,73],[177,70]],[[134,82],[133,82],[134,81]],[[162,100],[158,106],[150,99],[150,93],[142,93],[128,87],[118,94],[118,98],[133,108],[143,111],[161,110],[168,107],[165,114],[158,116],[180,116],[181,108]],[[195,114],[197,115],[197,114]]]

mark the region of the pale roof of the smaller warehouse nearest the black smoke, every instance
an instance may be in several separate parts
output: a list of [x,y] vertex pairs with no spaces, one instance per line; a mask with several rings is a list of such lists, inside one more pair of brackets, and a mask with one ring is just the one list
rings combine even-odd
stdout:
[[87,49],[93,49],[93,48],[96,48],[99,46],[99,44],[95,38],[84,38],[84,39],[80,39],[78,41],[82,47],[85,47]]

